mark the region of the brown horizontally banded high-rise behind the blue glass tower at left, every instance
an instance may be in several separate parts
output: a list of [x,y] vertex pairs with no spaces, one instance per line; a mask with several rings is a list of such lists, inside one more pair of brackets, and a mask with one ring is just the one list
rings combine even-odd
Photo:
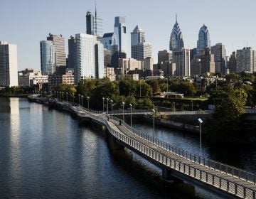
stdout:
[[[66,58],[65,58],[65,38],[62,35],[53,35],[49,33],[47,41],[53,41],[54,50],[55,50],[55,65],[58,67],[66,67]],[[65,72],[65,71],[64,71]]]

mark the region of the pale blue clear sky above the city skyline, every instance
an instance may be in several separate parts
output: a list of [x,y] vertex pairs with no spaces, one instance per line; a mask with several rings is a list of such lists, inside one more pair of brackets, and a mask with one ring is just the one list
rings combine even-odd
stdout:
[[[86,33],[85,15],[95,11],[95,0],[0,0],[0,6],[0,41],[17,44],[18,70],[40,70],[40,41],[62,34],[68,54],[68,38]],[[114,16],[126,17],[128,33],[139,24],[155,63],[159,50],[169,50],[176,14],[185,48],[196,47],[204,23],[211,44],[223,43],[226,55],[247,46],[256,50],[255,9],[255,0],[97,0],[104,33],[114,31]]]

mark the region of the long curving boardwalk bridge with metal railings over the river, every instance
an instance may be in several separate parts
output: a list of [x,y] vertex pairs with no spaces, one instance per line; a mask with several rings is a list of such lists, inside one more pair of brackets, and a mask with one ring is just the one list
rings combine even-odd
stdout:
[[49,106],[70,112],[80,121],[90,121],[105,127],[109,132],[112,149],[127,147],[147,161],[162,169],[164,178],[179,178],[223,194],[229,198],[256,199],[256,176],[254,173],[228,166],[178,149],[164,141],[129,127],[118,118],[102,112],[89,111],[73,102],[49,99]]

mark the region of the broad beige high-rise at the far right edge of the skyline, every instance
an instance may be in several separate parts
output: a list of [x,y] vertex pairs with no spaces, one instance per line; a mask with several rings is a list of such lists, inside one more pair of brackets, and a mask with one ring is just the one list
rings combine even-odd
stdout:
[[236,56],[237,72],[255,72],[256,71],[256,53],[252,48],[242,48],[237,50]]

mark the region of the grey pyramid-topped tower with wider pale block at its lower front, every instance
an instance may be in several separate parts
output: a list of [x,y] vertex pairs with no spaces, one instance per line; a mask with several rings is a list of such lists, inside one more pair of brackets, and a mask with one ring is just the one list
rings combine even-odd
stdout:
[[131,33],[132,58],[144,60],[152,55],[151,43],[145,42],[145,33],[137,25]]

